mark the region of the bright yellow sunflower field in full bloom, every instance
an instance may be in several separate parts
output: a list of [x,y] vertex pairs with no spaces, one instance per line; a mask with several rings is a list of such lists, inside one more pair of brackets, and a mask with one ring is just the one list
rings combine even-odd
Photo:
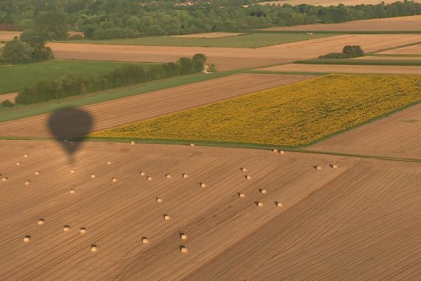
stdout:
[[330,74],[91,136],[300,146],[418,101],[421,76]]

